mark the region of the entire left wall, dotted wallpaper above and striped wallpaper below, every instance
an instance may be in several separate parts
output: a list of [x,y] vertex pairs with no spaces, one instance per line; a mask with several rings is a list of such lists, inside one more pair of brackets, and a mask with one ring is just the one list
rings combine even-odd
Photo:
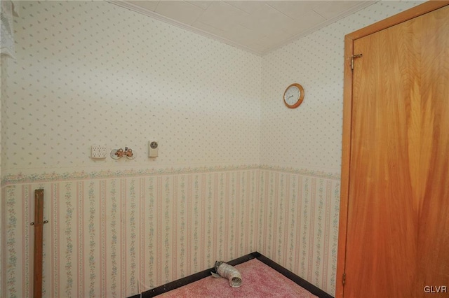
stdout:
[[44,297],[128,297],[257,250],[262,59],[105,1],[18,4],[0,296],[31,296],[38,187]]

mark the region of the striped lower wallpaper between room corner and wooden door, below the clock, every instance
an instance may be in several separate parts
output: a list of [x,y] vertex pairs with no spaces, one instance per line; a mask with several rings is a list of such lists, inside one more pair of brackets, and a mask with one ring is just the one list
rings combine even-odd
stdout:
[[339,176],[262,169],[260,185],[258,251],[334,295]]

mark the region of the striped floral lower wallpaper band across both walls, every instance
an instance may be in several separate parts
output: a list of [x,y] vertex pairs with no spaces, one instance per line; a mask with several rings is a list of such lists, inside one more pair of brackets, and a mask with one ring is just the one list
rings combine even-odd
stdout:
[[251,166],[6,179],[1,296],[32,297],[41,187],[43,297],[129,297],[254,251],[333,294],[339,184]]

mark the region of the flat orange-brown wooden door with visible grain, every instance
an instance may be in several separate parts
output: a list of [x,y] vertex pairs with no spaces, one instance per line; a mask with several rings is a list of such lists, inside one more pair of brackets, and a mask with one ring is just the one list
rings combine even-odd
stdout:
[[449,6],[353,46],[342,293],[448,297]]

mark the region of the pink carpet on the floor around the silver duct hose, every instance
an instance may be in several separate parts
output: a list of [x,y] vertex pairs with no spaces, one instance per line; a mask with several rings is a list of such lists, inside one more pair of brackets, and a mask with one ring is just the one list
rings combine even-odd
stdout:
[[157,297],[316,297],[257,259],[236,265],[242,276],[239,288],[229,286],[225,278],[203,278]]

